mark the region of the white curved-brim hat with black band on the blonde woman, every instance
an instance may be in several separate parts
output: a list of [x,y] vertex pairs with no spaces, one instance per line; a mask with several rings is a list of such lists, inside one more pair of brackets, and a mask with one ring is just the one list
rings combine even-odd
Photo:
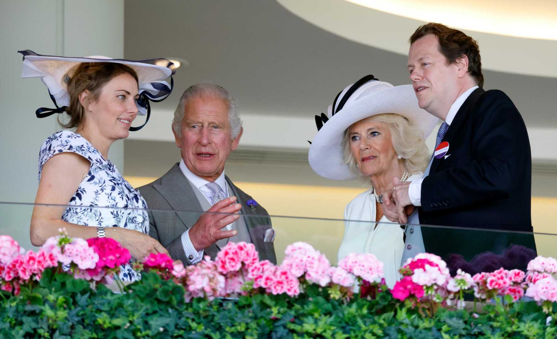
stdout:
[[346,87],[329,106],[328,115],[316,115],[317,135],[308,155],[312,170],[333,180],[352,180],[358,175],[343,159],[344,131],[355,122],[373,115],[395,113],[422,130],[425,140],[437,124],[437,118],[419,108],[412,85],[393,86],[373,75],[364,76]]

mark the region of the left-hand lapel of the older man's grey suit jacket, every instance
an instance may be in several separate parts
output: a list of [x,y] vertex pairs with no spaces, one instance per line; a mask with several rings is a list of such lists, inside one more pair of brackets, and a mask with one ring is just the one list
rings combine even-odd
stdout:
[[183,222],[185,229],[189,229],[189,227],[192,227],[197,222],[203,209],[178,164],[174,164],[170,171],[162,177],[160,185],[153,185],[153,187],[168,201],[172,209],[176,211],[175,213],[180,221]]

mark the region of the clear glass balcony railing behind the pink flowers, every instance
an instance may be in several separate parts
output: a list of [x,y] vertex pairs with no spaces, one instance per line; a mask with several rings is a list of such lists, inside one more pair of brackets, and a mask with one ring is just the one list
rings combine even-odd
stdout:
[[[151,224],[150,234],[158,238],[165,247],[204,214],[187,210],[133,210],[0,202],[0,234],[12,236],[25,249],[33,249],[30,239],[33,211],[37,218],[46,215],[61,217],[66,214],[73,220],[80,220],[80,224],[89,226]],[[240,216],[244,226],[239,227],[245,227],[245,232],[240,232],[241,237],[234,239],[251,241],[260,252],[274,251],[278,263],[284,258],[286,246],[296,241],[308,243],[325,254],[331,265],[337,263],[339,255],[342,257],[351,252],[374,253],[393,272],[398,270],[405,256],[423,249],[441,256],[453,274],[457,268],[471,274],[492,272],[500,267],[525,269],[527,262],[536,255],[557,258],[557,234],[478,230],[442,225],[407,225],[405,227],[408,229],[404,233],[404,227],[395,223],[256,215],[248,207],[242,211],[244,212]],[[148,216],[145,219],[150,220],[143,220],[144,216]],[[62,224],[50,224],[43,217],[37,225],[43,227],[41,234],[53,236],[58,234],[58,226]],[[271,227],[273,232],[267,231]],[[418,232],[422,234],[422,238],[414,236]],[[106,234],[110,236],[109,231]],[[226,241],[218,243],[217,249],[224,244]]]

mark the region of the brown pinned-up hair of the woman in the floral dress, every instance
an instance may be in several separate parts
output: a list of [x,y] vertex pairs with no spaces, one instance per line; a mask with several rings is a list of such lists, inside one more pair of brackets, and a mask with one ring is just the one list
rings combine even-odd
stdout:
[[71,77],[66,75],[64,79],[70,95],[70,106],[66,109],[70,121],[64,124],[58,120],[63,128],[77,127],[83,121],[85,107],[79,101],[79,95],[83,91],[91,92],[91,95],[87,95],[86,98],[85,106],[87,106],[91,101],[99,98],[102,87],[115,76],[127,73],[138,81],[138,75],[131,67],[116,62],[82,62],[76,67],[74,74]]

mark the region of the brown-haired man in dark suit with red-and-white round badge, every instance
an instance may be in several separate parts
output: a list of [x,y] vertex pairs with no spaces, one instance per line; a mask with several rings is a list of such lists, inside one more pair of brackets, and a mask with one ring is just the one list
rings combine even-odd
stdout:
[[530,142],[520,113],[502,91],[482,89],[480,51],[465,33],[428,23],[410,42],[408,71],[418,105],[444,123],[423,178],[395,180],[385,214],[405,224],[412,210],[406,206],[419,206],[408,224],[463,229],[409,225],[404,258],[419,251],[449,261],[459,261],[451,254],[470,261],[485,251],[512,257],[510,247],[523,245],[530,250],[504,265],[524,267],[535,255],[535,243]]

